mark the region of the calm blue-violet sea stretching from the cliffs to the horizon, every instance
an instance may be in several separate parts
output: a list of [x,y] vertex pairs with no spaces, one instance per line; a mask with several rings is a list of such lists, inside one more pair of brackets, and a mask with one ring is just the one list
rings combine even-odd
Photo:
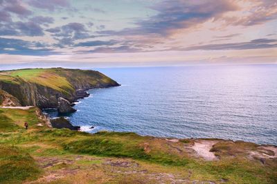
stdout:
[[122,86],[91,90],[76,104],[78,111],[69,118],[84,131],[277,145],[277,65],[98,71]]

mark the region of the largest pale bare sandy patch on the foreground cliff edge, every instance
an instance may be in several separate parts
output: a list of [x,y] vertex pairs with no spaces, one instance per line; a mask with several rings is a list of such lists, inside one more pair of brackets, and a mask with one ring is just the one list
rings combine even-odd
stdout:
[[200,140],[199,142],[195,142],[195,145],[191,148],[205,160],[217,160],[215,154],[210,151],[216,143],[217,141],[215,140]]

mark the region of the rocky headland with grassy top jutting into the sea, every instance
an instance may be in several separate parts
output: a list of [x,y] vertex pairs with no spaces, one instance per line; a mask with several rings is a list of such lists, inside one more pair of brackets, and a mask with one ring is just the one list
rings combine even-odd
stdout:
[[57,107],[57,98],[73,102],[87,95],[84,90],[110,86],[119,84],[98,71],[35,68],[0,72],[0,89],[22,106]]

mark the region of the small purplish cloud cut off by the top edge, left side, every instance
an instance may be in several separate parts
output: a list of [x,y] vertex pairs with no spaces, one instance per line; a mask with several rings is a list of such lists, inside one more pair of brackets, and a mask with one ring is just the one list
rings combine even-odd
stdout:
[[28,1],[28,4],[35,8],[41,8],[50,11],[53,11],[56,8],[64,8],[70,6],[69,1],[67,0],[30,0]]

